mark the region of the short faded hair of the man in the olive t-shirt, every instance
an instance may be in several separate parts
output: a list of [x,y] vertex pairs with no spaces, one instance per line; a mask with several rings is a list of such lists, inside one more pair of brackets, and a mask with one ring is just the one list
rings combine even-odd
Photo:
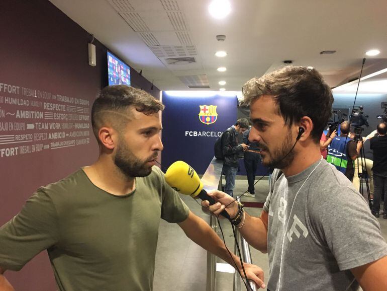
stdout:
[[[134,107],[138,112],[147,115],[164,110],[164,105],[152,95],[143,90],[126,85],[107,86],[101,90],[91,107],[91,125],[99,144],[98,131],[106,123],[116,129],[127,123],[122,115],[128,115],[128,107]],[[130,118],[130,115],[128,115]]]

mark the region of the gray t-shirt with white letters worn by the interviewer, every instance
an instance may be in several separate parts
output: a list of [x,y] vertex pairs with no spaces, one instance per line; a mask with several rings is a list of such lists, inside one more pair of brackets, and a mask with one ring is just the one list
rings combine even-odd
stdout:
[[350,269],[387,255],[367,202],[325,160],[291,177],[275,169],[263,210],[271,291],[356,290]]

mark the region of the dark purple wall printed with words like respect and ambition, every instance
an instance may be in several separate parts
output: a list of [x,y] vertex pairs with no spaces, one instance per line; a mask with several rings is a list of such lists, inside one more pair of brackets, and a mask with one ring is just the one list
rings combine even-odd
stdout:
[[[88,65],[89,33],[49,1],[3,0],[0,11],[0,83],[14,86],[0,84],[3,225],[39,186],[96,160],[98,145],[92,134],[90,109],[95,96],[107,85],[108,77],[107,48],[95,40],[97,65]],[[132,71],[133,86],[150,91],[150,83]],[[156,87],[151,92],[159,97]],[[48,103],[54,107],[45,108]],[[43,115],[23,116],[26,111]],[[55,119],[59,116],[56,114],[68,114],[67,120]],[[85,120],[69,120],[70,114],[71,118]],[[46,129],[45,124],[50,123],[60,123],[62,128]],[[85,128],[63,129],[64,123],[82,124]],[[64,132],[64,136],[49,139],[49,134],[55,132]],[[82,132],[82,136],[71,137],[72,132]],[[56,289],[45,251],[20,272],[8,271],[6,276],[17,290]]]

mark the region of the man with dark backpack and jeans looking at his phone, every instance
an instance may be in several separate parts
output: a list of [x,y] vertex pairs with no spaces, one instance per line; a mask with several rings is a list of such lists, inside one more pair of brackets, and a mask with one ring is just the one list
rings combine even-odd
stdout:
[[237,135],[245,132],[248,128],[249,121],[246,118],[240,118],[222,134],[221,144],[224,155],[223,173],[226,177],[224,191],[230,196],[233,196],[235,187],[235,179],[239,167],[239,154],[248,149],[247,144],[238,144]]

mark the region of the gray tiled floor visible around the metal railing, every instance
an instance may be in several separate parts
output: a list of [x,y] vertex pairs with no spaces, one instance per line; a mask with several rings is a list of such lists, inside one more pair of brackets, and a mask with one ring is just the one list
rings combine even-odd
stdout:
[[[246,180],[237,180],[235,194],[242,194],[247,189]],[[255,198],[242,197],[242,201],[264,202],[268,192],[268,181],[262,180],[255,185]],[[189,196],[181,195],[192,212],[209,222],[209,215],[204,213],[201,206]],[[261,208],[245,208],[251,215],[258,216]],[[382,216],[382,215],[381,215]],[[387,240],[387,220],[380,217],[381,232]],[[221,220],[225,234],[226,245],[234,250],[234,238],[230,224]],[[219,232],[220,235],[220,232]],[[267,254],[250,248],[252,262],[260,266],[265,272],[265,283],[268,279]],[[217,262],[223,262],[217,259]],[[161,221],[159,241],[156,254],[156,267],[154,274],[154,291],[206,291],[207,252],[190,241],[176,224]],[[216,275],[216,289],[218,291],[233,290],[233,274],[220,273]],[[244,290],[242,287],[241,290]]]

